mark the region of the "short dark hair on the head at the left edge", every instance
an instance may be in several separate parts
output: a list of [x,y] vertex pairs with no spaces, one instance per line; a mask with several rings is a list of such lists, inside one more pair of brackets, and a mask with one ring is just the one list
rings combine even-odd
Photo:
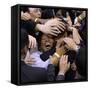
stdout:
[[21,49],[23,49],[26,45],[29,44],[29,38],[28,38],[28,33],[26,32],[25,29],[21,29]]

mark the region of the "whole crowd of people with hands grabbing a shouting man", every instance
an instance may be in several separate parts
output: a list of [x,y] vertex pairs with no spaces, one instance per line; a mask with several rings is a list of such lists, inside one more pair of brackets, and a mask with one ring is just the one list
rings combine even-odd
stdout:
[[21,82],[87,80],[87,12],[21,7]]

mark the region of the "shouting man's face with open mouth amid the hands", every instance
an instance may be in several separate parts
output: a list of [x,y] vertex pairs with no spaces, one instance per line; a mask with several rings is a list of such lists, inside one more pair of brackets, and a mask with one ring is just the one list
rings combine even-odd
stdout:
[[43,34],[41,37],[41,50],[43,52],[50,50],[54,45],[54,39],[51,35]]

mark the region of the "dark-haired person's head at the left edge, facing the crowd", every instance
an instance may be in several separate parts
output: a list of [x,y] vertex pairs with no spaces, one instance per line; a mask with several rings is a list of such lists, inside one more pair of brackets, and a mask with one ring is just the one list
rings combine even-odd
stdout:
[[26,53],[28,51],[28,44],[29,44],[29,39],[28,39],[28,34],[24,29],[21,29],[21,59],[24,59],[26,56]]

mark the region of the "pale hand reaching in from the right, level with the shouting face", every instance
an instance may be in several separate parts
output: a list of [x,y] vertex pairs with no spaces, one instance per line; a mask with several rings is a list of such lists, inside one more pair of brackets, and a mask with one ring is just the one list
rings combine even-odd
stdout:
[[66,37],[63,39],[63,41],[66,43],[65,47],[68,48],[69,50],[75,50],[77,51],[77,45],[74,42],[72,38]]

